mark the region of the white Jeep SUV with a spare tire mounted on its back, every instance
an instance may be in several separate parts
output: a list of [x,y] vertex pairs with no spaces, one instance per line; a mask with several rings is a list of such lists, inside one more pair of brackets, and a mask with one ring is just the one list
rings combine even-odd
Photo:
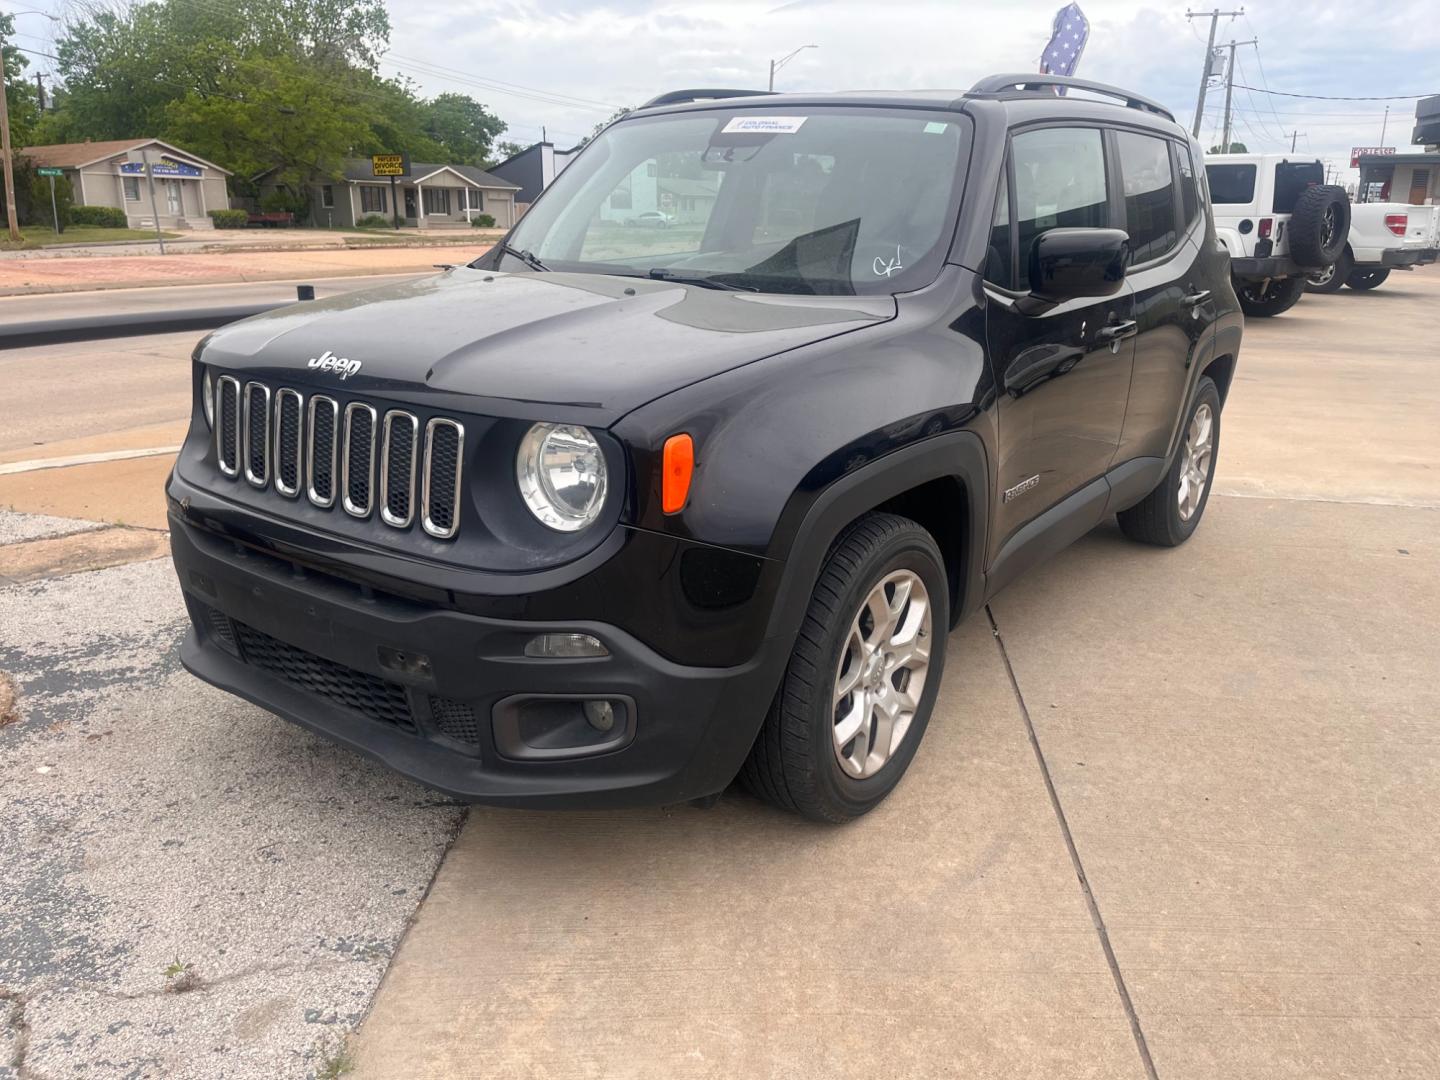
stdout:
[[1349,196],[1325,183],[1318,158],[1207,154],[1215,236],[1230,252],[1241,310],[1279,315],[1305,295],[1306,275],[1331,266],[1349,235]]

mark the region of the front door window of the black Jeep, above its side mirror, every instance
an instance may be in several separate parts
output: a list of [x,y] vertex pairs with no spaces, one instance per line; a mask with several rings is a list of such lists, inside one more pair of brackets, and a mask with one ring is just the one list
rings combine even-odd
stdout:
[[1030,249],[1047,229],[1110,223],[1099,128],[1043,128],[1015,135],[1015,223],[1020,288],[1030,288]]

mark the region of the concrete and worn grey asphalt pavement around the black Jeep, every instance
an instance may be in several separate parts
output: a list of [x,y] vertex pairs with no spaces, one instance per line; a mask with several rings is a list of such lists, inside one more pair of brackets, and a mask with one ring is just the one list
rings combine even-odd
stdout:
[[[0,582],[0,1061],[300,1077],[359,1025],[386,1079],[1440,1074],[1437,304],[1251,321],[1195,537],[1100,527],[956,631],[840,829],[464,814],[177,671],[164,560]],[[92,367],[184,370],[151,344]],[[0,511],[0,575],[115,531]]]

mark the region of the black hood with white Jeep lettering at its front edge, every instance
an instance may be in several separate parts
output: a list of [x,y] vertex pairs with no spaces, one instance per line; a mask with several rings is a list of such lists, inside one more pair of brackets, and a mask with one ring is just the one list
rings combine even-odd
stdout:
[[[721,372],[894,318],[893,297],[780,297],[596,274],[452,269],[217,330],[204,360],[278,384],[484,399],[608,426]],[[310,369],[312,359],[324,363]],[[348,360],[350,364],[338,364]],[[359,367],[356,367],[359,361]],[[343,370],[353,370],[341,379]]]

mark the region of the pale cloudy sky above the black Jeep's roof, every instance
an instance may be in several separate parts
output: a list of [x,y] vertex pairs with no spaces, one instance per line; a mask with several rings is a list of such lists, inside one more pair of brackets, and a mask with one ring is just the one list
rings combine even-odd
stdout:
[[[387,72],[428,92],[491,105],[510,137],[544,125],[556,143],[621,105],[680,86],[763,86],[770,58],[801,45],[779,89],[968,88],[999,71],[1035,71],[1060,0],[389,0]],[[1250,0],[1224,4],[1217,42],[1238,49],[1237,82],[1319,95],[1440,94],[1437,0]],[[1081,0],[1090,45],[1079,75],[1133,88],[1194,118],[1208,19],[1185,4]],[[1208,4],[1214,7],[1214,4]],[[1224,92],[1207,99],[1202,138],[1218,143]],[[1408,144],[1413,101],[1394,101],[1388,145]],[[1306,101],[1236,91],[1236,134],[1251,150],[1297,147],[1348,164],[1378,145],[1385,102]]]

